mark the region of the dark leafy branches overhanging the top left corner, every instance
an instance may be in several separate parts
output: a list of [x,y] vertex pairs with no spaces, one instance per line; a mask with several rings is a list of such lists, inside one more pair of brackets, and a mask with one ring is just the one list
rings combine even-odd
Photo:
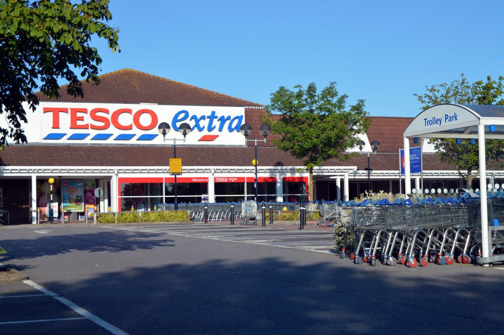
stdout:
[[[99,84],[98,66],[102,60],[89,43],[97,36],[119,51],[118,29],[106,22],[112,19],[109,0],[0,0],[0,114],[6,113],[8,126],[0,127],[0,145],[12,138],[26,143],[22,122],[28,101],[38,105],[34,91],[50,98],[59,97],[57,79],[69,82],[67,92],[83,97],[81,82],[74,69],[88,83]],[[39,84],[40,83],[40,87]]]

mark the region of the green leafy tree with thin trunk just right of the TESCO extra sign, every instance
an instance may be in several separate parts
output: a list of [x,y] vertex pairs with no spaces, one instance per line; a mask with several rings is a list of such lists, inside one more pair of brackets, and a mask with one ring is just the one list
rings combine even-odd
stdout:
[[[272,132],[279,135],[274,141],[277,148],[303,159],[309,172],[309,199],[313,201],[313,168],[332,158],[349,159],[352,154],[345,151],[357,145],[358,135],[367,130],[370,120],[364,100],[347,108],[348,96],[339,95],[335,82],[320,93],[314,83],[306,90],[301,85],[294,88],[280,87],[271,94],[271,103],[265,109]],[[271,117],[274,112],[281,114],[276,121]]]

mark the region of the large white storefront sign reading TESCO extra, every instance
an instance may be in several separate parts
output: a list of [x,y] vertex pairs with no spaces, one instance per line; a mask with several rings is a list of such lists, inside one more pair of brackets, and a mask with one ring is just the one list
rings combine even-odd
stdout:
[[[167,122],[166,136],[182,139],[178,125],[191,125],[186,144],[245,144],[240,126],[244,107],[179,106],[151,104],[107,104],[40,102],[35,112],[24,103],[29,143],[160,144],[158,125]],[[7,125],[2,118],[3,126]]]

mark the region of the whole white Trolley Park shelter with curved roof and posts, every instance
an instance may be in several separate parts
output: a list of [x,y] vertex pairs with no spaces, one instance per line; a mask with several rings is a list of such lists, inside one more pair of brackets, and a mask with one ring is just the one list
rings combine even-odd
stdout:
[[[404,131],[404,161],[409,162],[410,138],[478,139],[481,242],[483,257],[478,262],[488,264],[502,260],[491,256],[489,230],[504,227],[488,227],[485,139],[504,139],[504,106],[439,104],[418,114]],[[405,164],[405,192],[411,193],[410,165]],[[501,255],[500,255],[501,256]]]

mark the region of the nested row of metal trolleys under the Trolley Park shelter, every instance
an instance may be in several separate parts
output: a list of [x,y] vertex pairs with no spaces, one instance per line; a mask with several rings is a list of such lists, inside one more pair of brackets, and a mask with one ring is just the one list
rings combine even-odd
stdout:
[[[488,221],[504,222],[504,199],[488,200]],[[427,205],[339,206],[336,219],[345,228],[340,257],[346,256],[349,234],[354,263],[410,267],[429,262],[469,263],[481,255],[481,213],[478,198],[450,199]],[[504,251],[504,231],[492,232],[492,253]]]

